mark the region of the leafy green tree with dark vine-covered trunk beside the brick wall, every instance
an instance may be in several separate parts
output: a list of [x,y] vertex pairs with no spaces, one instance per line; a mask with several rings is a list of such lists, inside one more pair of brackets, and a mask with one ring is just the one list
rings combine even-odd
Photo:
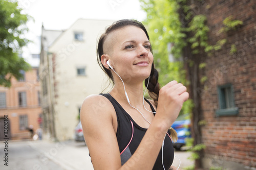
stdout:
[[[194,1],[191,2],[191,6],[186,0],[140,0],[140,2],[147,12],[145,24],[152,38],[156,67],[160,75],[164,75],[160,77],[160,82],[163,83],[164,78],[168,78],[166,81],[174,78],[189,89],[193,104],[191,101],[184,103],[184,108],[186,112],[191,113],[195,168],[200,168],[204,145],[201,140],[202,112],[198,89],[201,88],[199,69],[203,66],[204,49],[209,48],[208,29],[204,25],[206,17],[191,12],[190,7],[195,5]],[[174,44],[170,52],[167,51],[166,46],[169,42]],[[180,62],[169,62],[169,53]]]

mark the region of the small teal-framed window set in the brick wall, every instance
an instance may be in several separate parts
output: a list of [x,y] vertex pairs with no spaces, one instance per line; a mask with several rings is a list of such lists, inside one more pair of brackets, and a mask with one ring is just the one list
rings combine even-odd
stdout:
[[231,84],[218,86],[220,109],[216,111],[217,115],[236,115],[238,108],[234,105],[233,87]]

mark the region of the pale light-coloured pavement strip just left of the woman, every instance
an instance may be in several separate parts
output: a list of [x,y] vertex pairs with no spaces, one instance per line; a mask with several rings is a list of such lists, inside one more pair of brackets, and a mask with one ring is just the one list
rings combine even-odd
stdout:
[[52,160],[65,170],[93,170],[89,151],[84,142],[47,140],[27,141],[41,154],[41,161]]

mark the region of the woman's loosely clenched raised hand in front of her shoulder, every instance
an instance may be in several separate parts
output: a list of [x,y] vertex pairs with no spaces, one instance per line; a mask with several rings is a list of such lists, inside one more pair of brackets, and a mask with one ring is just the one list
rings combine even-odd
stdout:
[[[178,117],[183,103],[188,99],[187,88],[177,81],[163,86],[159,91],[157,114],[169,128]],[[156,115],[157,115],[156,114]]]

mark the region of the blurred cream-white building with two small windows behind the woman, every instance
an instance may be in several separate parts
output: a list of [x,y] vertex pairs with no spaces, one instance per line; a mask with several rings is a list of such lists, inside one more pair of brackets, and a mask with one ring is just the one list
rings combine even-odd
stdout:
[[[113,21],[78,19],[51,44],[42,28],[40,79],[44,130],[58,140],[71,139],[79,122],[81,104],[90,94],[102,92],[106,78],[97,63],[99,36]],[[51,37],[51,36],[50,36]],[[51,37],[53,38],[53,37]]]

